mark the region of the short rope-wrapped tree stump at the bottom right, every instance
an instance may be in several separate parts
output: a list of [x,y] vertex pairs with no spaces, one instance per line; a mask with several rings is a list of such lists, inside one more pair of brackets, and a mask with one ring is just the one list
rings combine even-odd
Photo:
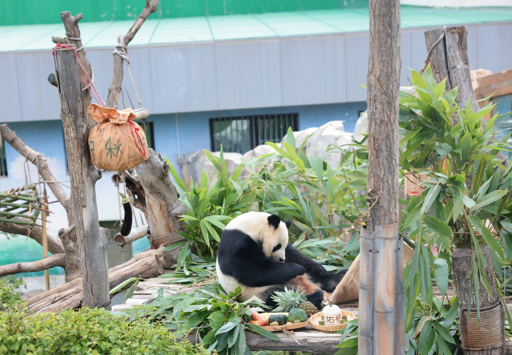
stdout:
[[[482,270],[482,273],[490,284],[491,293],[487,293],[484,285],[479,282],[478,299],[470,289],[474,250],[460,248],[452,254],[453,275],[459,298],[462,348],[468,355],[500,355],[505,340],[503,303],[496,291],[490,249],[487,245],[483,245],[481,248],[487,263],[487,267]],[[480,308],[480,320],[477,317],[477,303]],[[469,316],[468,308],[470,308]]]

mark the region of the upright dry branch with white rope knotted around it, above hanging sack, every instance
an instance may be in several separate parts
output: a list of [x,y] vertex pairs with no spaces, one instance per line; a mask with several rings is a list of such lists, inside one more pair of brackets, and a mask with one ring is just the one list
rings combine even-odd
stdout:
[[[139,17],[135,20],[132,27],[126,32],[124,36],[119,36],[117,39],[118,45],[114,51],[114,75],[112,76],[112,85],[109,89],[109,97],[106,100],[107,107],[116,107],[119,94],[121,93],[121,86],[123,82],[123,57],[126,57],[127,48],[126,46],[133,39],[139,28],[142,26],[144,21],[155,12],[158,8],[160,0],[153,0],[151,4],[146,1],[144,10],[140,13]],[[127,58],[127,57],[126,57]]]

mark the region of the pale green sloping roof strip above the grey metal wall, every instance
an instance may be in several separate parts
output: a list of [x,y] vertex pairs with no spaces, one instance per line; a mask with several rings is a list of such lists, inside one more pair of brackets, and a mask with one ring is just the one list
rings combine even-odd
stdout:
[[[307,5],[310,0],[301,1]],[[237,6],[235,3],[229,2],[230,6]],[[261,14],[150,18],[140,28],[131,45],[368,32],[368,13],[368,8],[338,8]],[[464,9],[401,7],[401,27],[404,29],[504,21],[512,21],[512,7]],[[84,22],[80,23],[80,32],[86,48],[113,48],[117,43],[117,37],[125,34],[132,25],[133,19]],[[62,37],[65,30],[62,24],[13,25],[0,26],[0,34],[1,52],[35,51],[51,50],[54,47],[51,37]]]

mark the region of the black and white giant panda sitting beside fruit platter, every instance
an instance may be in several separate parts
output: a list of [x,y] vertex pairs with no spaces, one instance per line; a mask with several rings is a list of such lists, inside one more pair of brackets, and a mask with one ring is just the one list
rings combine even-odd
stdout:
[[288,243],[290,220],[264,212],[248,212],[225,227],[217,254],[217,277],[226,292],[240,285],[241,298],[257,296],[269,306],[275,291],[285,287],[306,291],[322,308],[324,291],[331,293],[345,275],[328,273],[321,264]]

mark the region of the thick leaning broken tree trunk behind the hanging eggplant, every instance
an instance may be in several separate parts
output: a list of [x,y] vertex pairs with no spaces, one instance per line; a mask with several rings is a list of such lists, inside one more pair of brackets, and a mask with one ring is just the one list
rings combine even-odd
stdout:
[[[179,216],[185,214],[187,207],[180,202],[179,194],[169,178],[169,165],[162,156],[150,149],[150,157],[143,163],[135,166],[137,179],[143,189],[147,225],[150,230],[148,239],[151,248],[168,245],[175,238],[166,239],[176,230],[184,231],[183,221]],[[133,178],[133,177],[132,177]],[[135,184],[126,184],[131,196],[140,196],[139,191],[132,191]]]

